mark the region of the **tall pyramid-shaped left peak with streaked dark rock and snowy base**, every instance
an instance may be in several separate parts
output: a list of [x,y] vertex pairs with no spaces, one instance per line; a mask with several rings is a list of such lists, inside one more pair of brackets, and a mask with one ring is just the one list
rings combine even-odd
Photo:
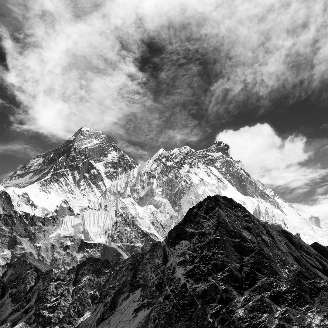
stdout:
[[135,167],[136,162],[109,137],[83,127],[65,143],[22,166],[2,185],[18,194],[27,192],[37,205],[48,209],[64,199],[81,207],[98,198],[110,180]]

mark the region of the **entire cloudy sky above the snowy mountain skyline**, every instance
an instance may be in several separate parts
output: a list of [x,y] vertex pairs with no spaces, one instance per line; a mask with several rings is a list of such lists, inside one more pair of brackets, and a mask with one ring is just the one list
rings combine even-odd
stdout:
[[3,0],[0,181],[80,127],[138,162],[228,142],[328,217],[324,0]]

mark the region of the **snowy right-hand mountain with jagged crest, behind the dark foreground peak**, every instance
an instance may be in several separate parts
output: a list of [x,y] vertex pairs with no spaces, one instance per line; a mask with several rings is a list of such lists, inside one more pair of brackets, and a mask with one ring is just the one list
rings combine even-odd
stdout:
[[208,195],[235,199],[258,219],[280,224],[308,243],[328,244],[327,229],[320,229],[274,191],[266,188],[230,157],[229,146],[216,142],[206,150],[182,147],[161,149],[141,166],[111,182],[99,198],[108,208],[144,224],[144,230],[165,238],[187,211]]

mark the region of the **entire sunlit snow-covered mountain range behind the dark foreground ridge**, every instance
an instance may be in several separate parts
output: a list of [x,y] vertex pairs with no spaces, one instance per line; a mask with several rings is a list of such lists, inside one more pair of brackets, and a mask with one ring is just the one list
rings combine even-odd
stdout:
[[161,149],[137,165],[103,133],[81,128],[3,185],[0,265],[24,252],[56,269],[113,252],[126,258],[163,240],[192,206],[216,194],[308,244],[328,244],[326,226],[253,179],[223,142],[200,151]]

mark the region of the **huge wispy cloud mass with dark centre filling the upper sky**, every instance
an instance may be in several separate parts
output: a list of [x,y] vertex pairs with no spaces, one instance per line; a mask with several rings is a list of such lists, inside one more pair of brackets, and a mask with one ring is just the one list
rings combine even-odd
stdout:
[[85,125],[149,151],[201,140],[239,113],[328,98],[323,0],[3,8],[5,78],[22,102],[11,116],[17,129],[66,139]]

